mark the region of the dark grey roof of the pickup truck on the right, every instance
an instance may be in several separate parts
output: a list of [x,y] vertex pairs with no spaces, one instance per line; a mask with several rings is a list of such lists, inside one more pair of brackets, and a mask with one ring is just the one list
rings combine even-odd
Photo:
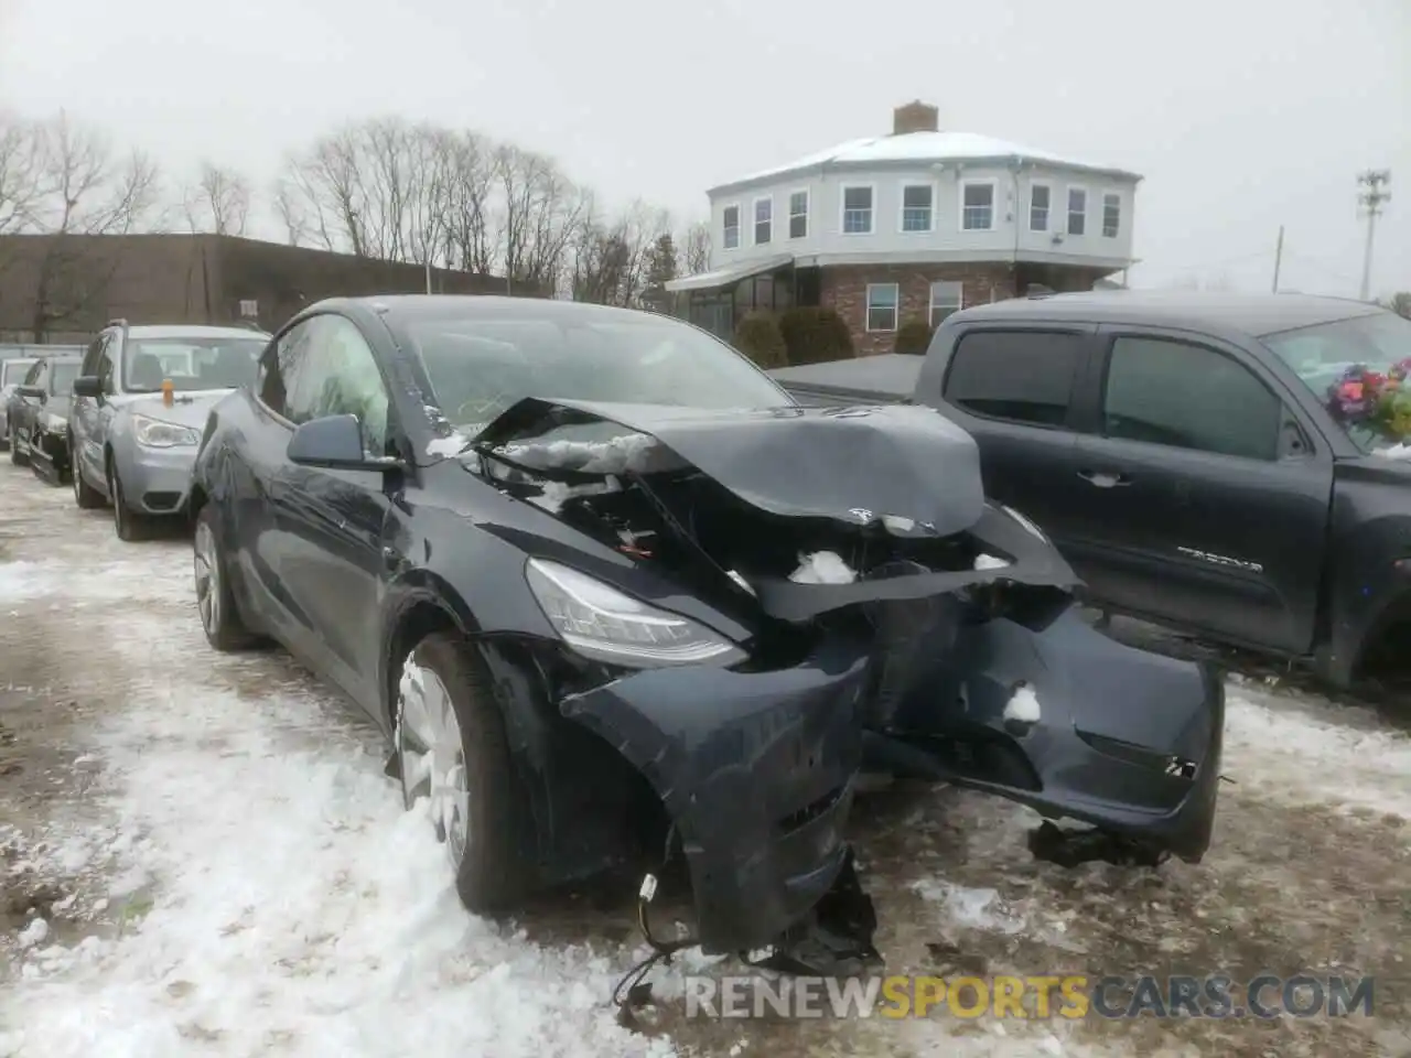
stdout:
[[1386,312],[1377,305],[1312,293],[1225,293],[1215,291],[1084,291],[1012,298],[952,313],[947,320],[1057,320],[1147,323],[1235,330],[1264,337],[1319,323]]

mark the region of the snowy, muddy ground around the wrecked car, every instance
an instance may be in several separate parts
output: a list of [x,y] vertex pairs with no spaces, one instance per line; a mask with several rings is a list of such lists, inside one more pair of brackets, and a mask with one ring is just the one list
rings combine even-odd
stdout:
[[700,1021],[679,975],[721,968],[686,958],[643,1034],[610,1002],[626,906],[464,913],[370,726],[278,652],[206,647],[183,539],[121,545],[6,467],[0,622],[0,1058],[1411,1052],[1411,742],[1366,711],[1232,686],[1199,866],[1061,870],[955,790],[856,824],[889,972],[1336,966],[1379,975],[1371,1021]]

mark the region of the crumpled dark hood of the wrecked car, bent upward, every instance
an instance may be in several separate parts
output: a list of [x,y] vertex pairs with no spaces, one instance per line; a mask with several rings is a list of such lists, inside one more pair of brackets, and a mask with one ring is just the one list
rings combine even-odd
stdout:
[[[902,519],[947,536],[985,509],[975,440],[938,412],[912,405],[715,411],[525,398],[481,430],[474,447],[602,420],[655,439],[777,515],[852,525]],[[607,473],[571,463],[564,470]]]

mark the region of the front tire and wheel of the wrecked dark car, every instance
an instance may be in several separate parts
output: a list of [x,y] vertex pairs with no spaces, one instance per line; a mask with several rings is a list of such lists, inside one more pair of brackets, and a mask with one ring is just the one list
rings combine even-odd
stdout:
[[[396,725],[394,741],[402,774],[402,803],[412,808],[430,790],[422,755],[426,735],[423,719],[416,719],[418,700],[435,707],[435,695],[446,695],[449,715],[456,721],[459,739],[446,739],[437,770],[452,783],[464,779],[460,815],[464,825],[457,834],[459,820],[437,818],[436,798],[430,798],[430,814],[436,837],[450,853],[456,872],[456,892],[461,903],[474,914],[508,910],[522,903],[528,886],[528,872],[519,851],[521,811],[523,800],[515,777],[505,736],[505,721],[494,697],[494,681],[476,646],[464,636],[436,632],[416,645],[406,659],[396,693]],[[423,711],[423,717],[428,711]],[[404,718],[411,717],[408,722]],[[444,728],[443,728],[444,731]],[[459,742],[459,753],[452,742]],[[461,842],[457,842],[457,837]],[[457,846],[459,844],[459,846]]]

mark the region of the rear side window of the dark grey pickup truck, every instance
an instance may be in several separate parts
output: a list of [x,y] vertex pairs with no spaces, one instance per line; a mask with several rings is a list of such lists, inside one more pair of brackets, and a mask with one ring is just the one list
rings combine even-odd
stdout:
[[945,401],[992,419],[1062,426],[1082,341],[1082,334],[1050,330],[969,332],[951,355]]

